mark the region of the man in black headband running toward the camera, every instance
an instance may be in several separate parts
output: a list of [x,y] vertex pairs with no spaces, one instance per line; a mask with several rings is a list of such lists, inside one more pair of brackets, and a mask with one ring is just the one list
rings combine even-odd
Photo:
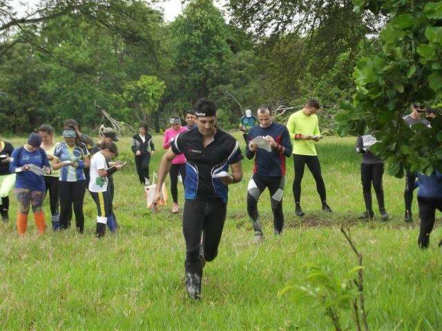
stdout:
[[[200,99],[195,106],[198,128],[177,135],[161,160],[154,204],[173,158],[186,157],[186,185],[182,229],[186,241],[186,289],[189,297],[200,299],[202,268],[218,254],[227,212],[227,185],[242,179],[239,143],[215,126],[216,106]],[[227,174],[231,167],[231,174]]]

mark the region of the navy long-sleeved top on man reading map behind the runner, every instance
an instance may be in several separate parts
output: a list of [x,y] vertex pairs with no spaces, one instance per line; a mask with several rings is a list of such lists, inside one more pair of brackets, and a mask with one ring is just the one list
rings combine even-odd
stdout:
[[267,128],[261,126],[253,126],[249,131],[248,141],[252,141],[256,137],[270,136],[284,147],[284,152],[278,152],[272,149],[271,152],[263,148],[258,148],[256,152],[251,152],[247,145],[246,156],[247,159],[255,157],[255,167],[253,173],[262,174],[266,177],[280,177],[285,175],[285,158],[291,156],[292,146],[289,130],[286,126],[279,123],[271,123]]

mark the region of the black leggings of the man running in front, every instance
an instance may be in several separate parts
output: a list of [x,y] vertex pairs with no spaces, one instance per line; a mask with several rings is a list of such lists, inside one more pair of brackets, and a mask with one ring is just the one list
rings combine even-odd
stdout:
[[[186,270],[200,270],[200,245],[206,261],[218,255],[227,203],[221,199],[186,200],[182,232],[186,241]],[[202,238],[201,238],[202,236]]]

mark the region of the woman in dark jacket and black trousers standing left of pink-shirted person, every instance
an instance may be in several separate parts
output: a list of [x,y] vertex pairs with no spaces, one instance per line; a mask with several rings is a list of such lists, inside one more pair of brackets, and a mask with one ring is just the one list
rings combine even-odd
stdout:
[[151,134],[148,134],[148,126],[146,123],[140,125],[140,132],[132,137],[132,152],[135,154],[135,166],[137,168],[140,183],[151,185],[151,177],[149,177],[149,163],[151,156],[155,153],[155,146]]

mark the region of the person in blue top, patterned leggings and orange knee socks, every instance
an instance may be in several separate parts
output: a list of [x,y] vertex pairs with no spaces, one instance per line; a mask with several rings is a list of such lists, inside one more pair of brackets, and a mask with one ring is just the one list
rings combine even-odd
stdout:
[[17,173],[15,193],[19,203],[17,229],[20,235],[26,233],[29,205],[32,205],[35,224],[39,234],[44,234],[43,201],[45,193],[44,174],[50,174],[48,156],[41,145],[41,137],[31,133],[28,143],[12,152],[10,172]]

